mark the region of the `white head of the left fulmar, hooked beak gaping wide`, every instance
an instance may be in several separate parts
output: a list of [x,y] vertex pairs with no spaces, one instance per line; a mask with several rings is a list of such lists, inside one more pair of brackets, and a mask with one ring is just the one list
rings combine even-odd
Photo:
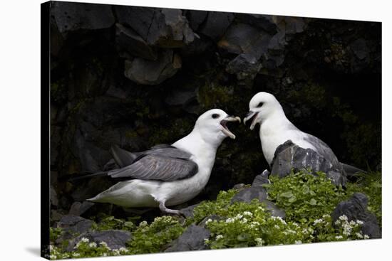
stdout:
[[200,115],[195,124],[203,138],[223,140],[226,137],[235,139],[235,135],[227,128],[227,122],[241,122],[239,117],[229,116],[220,109],[207,110]]

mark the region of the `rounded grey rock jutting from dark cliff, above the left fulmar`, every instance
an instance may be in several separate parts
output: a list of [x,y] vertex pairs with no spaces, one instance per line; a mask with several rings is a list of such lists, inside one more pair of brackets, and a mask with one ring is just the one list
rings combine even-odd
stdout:
[[158,55],[158,60],[135,58],[125,61],[125,77],[143,85],[158,85],[181,68],[181,58],[172,50]]

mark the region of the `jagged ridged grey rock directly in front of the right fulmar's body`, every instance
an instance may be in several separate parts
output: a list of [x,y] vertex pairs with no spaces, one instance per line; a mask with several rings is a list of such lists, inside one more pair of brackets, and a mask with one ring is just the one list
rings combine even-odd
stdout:
[[284,177],[289,175],[292,169],[299,171],[307,168],[311,168],[313,172],[325,172],[336,186],[344,186],[346,183],[341,164],[332,164],[313,149],[303,149],[290,140],[277,147],[272,160],[272,175]]

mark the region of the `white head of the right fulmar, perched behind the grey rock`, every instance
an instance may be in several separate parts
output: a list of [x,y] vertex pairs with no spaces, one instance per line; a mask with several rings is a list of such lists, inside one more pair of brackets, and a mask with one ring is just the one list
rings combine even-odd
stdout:
[[249,102],[249,112],[244,117],[244,124],[249,119],[252,119],[250,129],[254,129],[257,123],[261,124],[277,112],[283,112],[282,106],[277,98],[268,92],[258,92]]

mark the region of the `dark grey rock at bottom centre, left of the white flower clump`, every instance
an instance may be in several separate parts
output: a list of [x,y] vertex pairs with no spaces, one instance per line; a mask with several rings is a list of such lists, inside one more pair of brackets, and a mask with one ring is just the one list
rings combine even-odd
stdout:
[[210,230],[198,225],[190,225],[165,252],[205,250],[207,249],[204,243],[205,238],[210,238]]

